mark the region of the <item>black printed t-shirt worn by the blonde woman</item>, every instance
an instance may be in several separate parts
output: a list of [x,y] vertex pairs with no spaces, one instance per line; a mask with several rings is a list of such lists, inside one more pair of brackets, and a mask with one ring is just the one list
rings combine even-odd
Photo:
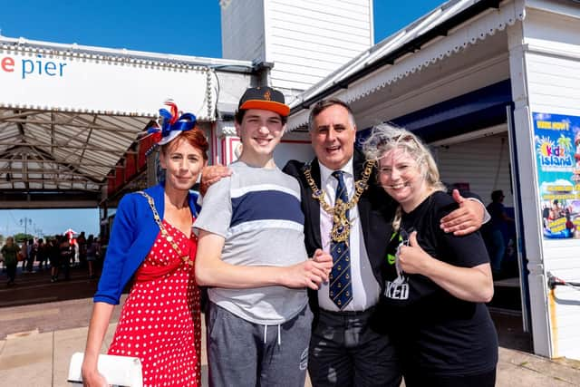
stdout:
[[402,214],[400,233],[391,237],[381,302],[406,372],[477,374],[491,371],[498,362],[498,336],[486,305],[459,300],[426,276],[399,276],[396,269],[396,249],[408,244],[412,231],[417,231],[421,248],[450,265],[489,262],[478,232],[455,237],[440,229],[440,218],[457,207],[448,194],[435,192]]

